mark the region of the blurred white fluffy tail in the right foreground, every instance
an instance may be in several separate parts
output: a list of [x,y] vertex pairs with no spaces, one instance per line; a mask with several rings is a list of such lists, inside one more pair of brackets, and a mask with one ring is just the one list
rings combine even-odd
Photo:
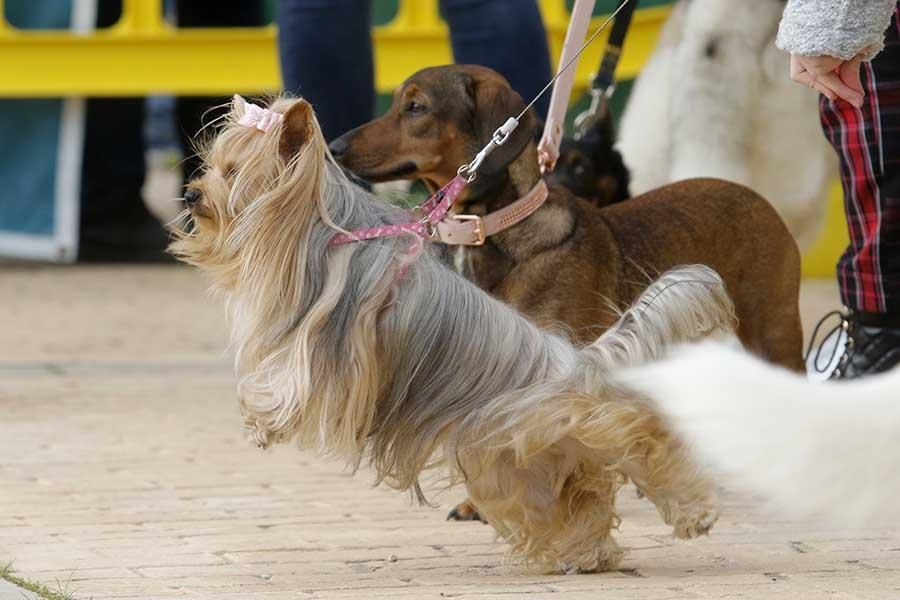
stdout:
[[900,521],[900,372],[817,384],[708,342],[617,380],[649,396],[701,463],[776,511]]

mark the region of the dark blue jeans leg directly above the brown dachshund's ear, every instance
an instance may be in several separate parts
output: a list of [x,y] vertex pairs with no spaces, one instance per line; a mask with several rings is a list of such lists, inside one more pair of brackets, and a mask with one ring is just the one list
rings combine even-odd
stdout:
[[[453,59],[490,67],[528,103],[552,77],[547,33],[536,0],[441,0]],[[535,108],[547,117],[550,91]]]

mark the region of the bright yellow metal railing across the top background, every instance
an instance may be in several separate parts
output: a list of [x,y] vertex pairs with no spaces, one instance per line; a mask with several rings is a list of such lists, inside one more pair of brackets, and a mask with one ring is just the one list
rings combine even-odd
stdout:
[[[379,92],[391,91],[422,67],[451,62],[437,3],[401,0],[395,18],[375,28]],[[551,52],[558,57],[568,11],[563,0],[540,0],[540,4]],[[2,8],[0,0],[0,15]],[[638,73],[667,14],[665,7],[638,12],[619,66],[621,78]],[[91,35],[23,31],[0,18],[0,97],[277,90],[281,83],[275,37],[275,26],[178,29],[164,19],[162,0],[123,0],[118,23]],[[582,87],[602,48],[603,40],[599,40],[581,61],[577,80]]]

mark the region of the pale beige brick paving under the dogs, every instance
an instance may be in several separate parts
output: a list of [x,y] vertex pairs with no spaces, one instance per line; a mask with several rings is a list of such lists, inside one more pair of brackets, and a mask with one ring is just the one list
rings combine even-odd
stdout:
[[[804,287],[807,321],[835,304],[832,284]],[[900,531],[734,494],[710,537],[680,542],[626,489],[621,571],[530,573],[488,527],[444,521],[458,490],[420,507],[248,445],[225,338],[185,268],[0,267],[0,566],[94,600],[900,597]]]

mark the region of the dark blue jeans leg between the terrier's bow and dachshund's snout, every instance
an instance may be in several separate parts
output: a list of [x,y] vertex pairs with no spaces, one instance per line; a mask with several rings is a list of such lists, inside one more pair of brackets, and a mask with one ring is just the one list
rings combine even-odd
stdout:
[[284,89],[312,103],[326,140],[372,120],[370,0],[278,0]]

